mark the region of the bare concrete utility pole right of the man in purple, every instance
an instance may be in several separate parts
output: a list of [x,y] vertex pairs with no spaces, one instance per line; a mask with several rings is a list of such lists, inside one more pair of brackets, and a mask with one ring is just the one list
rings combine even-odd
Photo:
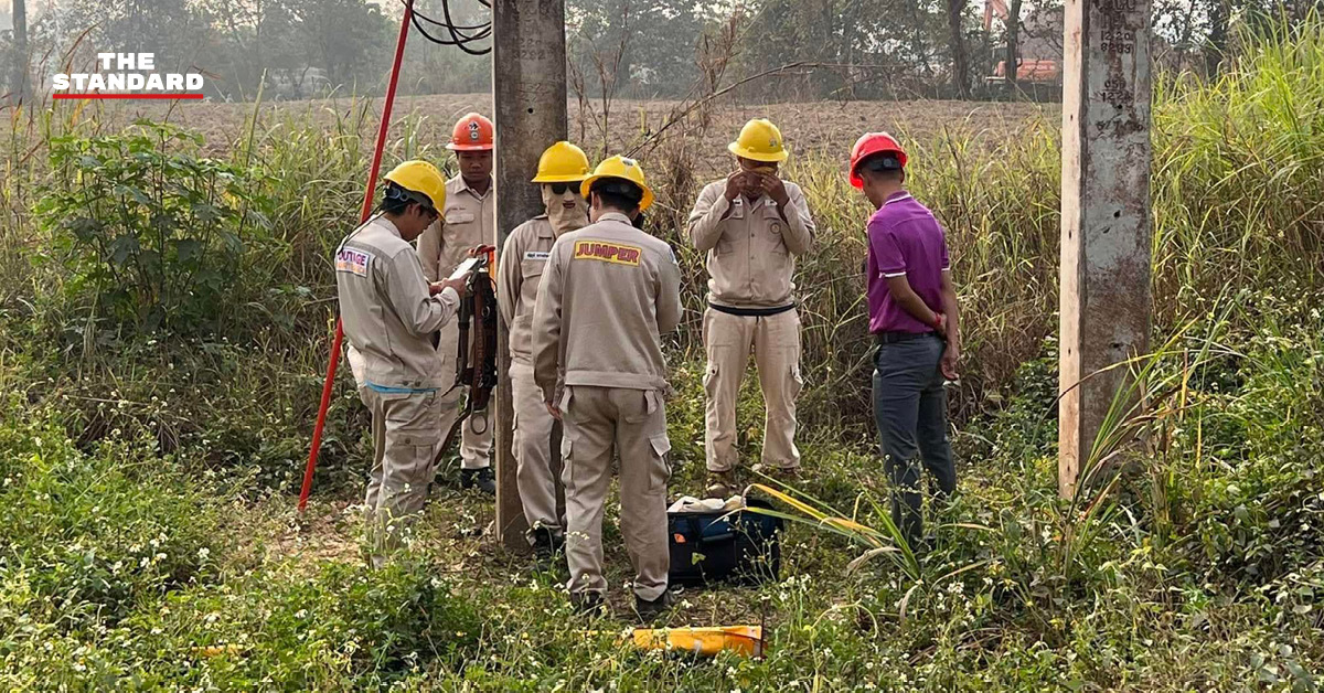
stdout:
[[1067,0],[1062,94],[1058,490],[1076,492],[1151,313],[1152,0]]

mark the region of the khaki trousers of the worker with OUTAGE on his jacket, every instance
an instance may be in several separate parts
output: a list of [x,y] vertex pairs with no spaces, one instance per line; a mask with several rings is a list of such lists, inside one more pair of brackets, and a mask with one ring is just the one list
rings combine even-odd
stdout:
[[[433,454],[441,437],[441,392],[377,392],[359,388],[372,412],[372,470],[368,473],[368,542],[373,563],[399,545],[399,530],[428,501]],[[454,420],[454,419],[451,419]]]

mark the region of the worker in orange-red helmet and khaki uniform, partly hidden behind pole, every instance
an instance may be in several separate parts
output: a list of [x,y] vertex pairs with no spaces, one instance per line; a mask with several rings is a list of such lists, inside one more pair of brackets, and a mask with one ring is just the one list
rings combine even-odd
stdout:
[[[446,182],[446,207],[441,219],[418,239],[418,260],[428,281],[446,278],[478,245],[496,244],[496,200],[493,195],[493,122],[470,113],[455,123],[446,148],[459,160],[459,175]],[[438,350],[451,372],[459,347],[459,323],[441,331]],[[444,408],[458,416],[462,388],[450,392]],[[451,419],[453,420],[453,419]],[[442,433],[445,437],[445,432]],[[459,443],[459,485],[495,494],[491,470],[493,432],[486,417],[465,421]]]

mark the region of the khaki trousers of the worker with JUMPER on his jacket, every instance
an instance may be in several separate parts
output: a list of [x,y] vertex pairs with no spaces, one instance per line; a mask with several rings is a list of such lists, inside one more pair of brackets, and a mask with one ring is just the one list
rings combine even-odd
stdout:
[[666,404],[662,392],[567,387],[561,398],[565,469],[565,555],[571,594],[605,592],[602,510],[612,488],[612,457],[621,460],[621,534],[634,566],[634,594],[654,600],[667,587]]

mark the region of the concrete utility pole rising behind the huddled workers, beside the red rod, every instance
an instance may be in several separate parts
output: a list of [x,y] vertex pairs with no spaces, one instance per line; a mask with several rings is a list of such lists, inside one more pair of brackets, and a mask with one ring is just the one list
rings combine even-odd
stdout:
[[[493,90],[496,101],[496,248],[519,224],[543,212],[538,186],[528,182],[538,158],[565,139],[565,1],[493,0]],[[496,258],[519,262],[519,258]],[[503,297],[504,298],[504,297]],[[510,350],[498,327],[496,354],[496,538],[507,549],[528,551],[524,509],[515,485],[511,452]],[[553,451],[555,453],[555,451]]]

